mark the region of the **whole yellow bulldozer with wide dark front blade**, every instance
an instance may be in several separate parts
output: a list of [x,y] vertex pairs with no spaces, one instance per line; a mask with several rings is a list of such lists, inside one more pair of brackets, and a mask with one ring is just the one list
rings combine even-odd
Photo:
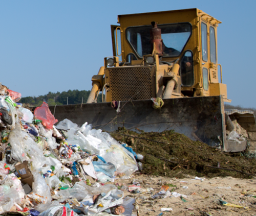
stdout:
[[105,131],[175,130],[226,152],[255,149],[253,112],[224,109],[221,21],[195,8],[118,15],[118,23],[87,103],[51,107],[55,117]]

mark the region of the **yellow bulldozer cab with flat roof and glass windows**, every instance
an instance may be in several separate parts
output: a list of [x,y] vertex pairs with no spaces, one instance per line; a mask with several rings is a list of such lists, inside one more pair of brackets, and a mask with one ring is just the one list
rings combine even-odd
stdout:
[[160,63],[179,59],[182,97],[222,95],[230,102],[226,85],[218,77],[217,27],[221,21],[199,9],[119,15],[120,26],[111,26],[113,55],[126,64],[142,65],[143,56],[152,54],[152,21],[161,29]]

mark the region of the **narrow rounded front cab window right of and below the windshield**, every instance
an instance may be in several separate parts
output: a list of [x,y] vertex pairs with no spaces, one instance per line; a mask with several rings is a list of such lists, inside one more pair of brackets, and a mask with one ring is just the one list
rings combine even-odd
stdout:
[[183,86],[194,84],[193,53],[191,51],[186,51],[180,61],[180,75]]

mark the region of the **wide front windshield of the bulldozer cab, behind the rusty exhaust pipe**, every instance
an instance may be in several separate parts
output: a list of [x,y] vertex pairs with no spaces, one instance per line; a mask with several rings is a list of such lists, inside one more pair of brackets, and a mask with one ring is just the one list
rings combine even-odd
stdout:
[[[129,27],[126,38],[139,57],[152,54],[150,44],[150,30],[152,26]],[[191,24],[176,23],[158,25],[163,40],[163,57],[178,57],[191,35]]]

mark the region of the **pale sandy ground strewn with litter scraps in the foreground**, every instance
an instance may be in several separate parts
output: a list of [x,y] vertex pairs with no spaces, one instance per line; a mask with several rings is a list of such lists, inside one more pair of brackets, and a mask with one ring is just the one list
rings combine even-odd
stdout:
[[[139,215],[256,215],[256,198],[244,194],[256,195],[256,179],[205,178],[203,181],[187,176],[184,179],[147,176],[135,174],[128,180],[116,180],[120,188],[140,184],[142,190],[153,188],[154,191],[133,194],[124,190],[125,196],[136,199],[139,205]],[[183,196],[170,196],[153,199],[152,196],[161,190],[162,185],[169,185],[168,190]],[[242,194],[244,193],[244,194]],[[219,203],[223,200],[245,208],[225,206]],[[187,202],[184,202],[187,201]],[[161,208],[172,208],[173,211],[161,211]]]

